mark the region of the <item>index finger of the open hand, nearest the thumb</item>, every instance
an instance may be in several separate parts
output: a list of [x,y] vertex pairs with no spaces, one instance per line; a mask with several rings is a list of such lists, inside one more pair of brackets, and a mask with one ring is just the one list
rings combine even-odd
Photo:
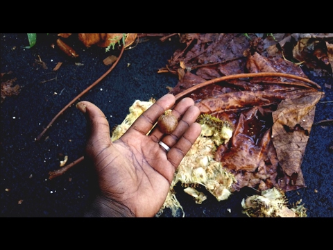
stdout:
[[173,94],[165,94],[158,99],[153,105],[148,108],[142,115],[140,115],[135,122],[128,129],[139,131],[142,135],[146,135],[154,124],[157,122],[158,117],[164,113],[165,110],[171,108],[176,102]]

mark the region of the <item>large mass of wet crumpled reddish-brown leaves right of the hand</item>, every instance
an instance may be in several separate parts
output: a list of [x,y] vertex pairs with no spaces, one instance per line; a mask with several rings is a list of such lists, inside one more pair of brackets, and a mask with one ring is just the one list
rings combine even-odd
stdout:
[[[181,39],[185,49],[176,51],[167,65],[180,79],[172,94],[246,72],[282,72],[307,78],[300,66],[285,58],[276,42],[264,49],[261,38],[248,40],[239,34],[185,34]],[[319,89],[291,78],[257,77],[214,83],[185,95],[194,99],[201,114],[234,126],[230,141],[213,149],[213,160],[235,180],[229,181],[230,188],[223,188],[234,192],[248,186],[285,192],[305,187],[300,165],[316,103],[324,95]],[[194,175],[197,166],[189,166]],[[220,183],[226,183],[225,179]],[[219,195],[215,197],[221,200]]]

